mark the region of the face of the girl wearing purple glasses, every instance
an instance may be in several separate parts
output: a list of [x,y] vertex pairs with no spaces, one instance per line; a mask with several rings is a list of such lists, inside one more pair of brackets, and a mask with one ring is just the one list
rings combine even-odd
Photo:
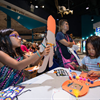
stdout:
[[19,34],[16,31],[13,31],[9,35],[9,37],[10,37],[13,48],[17,48],[21,46],[21,37],[19,37]]

